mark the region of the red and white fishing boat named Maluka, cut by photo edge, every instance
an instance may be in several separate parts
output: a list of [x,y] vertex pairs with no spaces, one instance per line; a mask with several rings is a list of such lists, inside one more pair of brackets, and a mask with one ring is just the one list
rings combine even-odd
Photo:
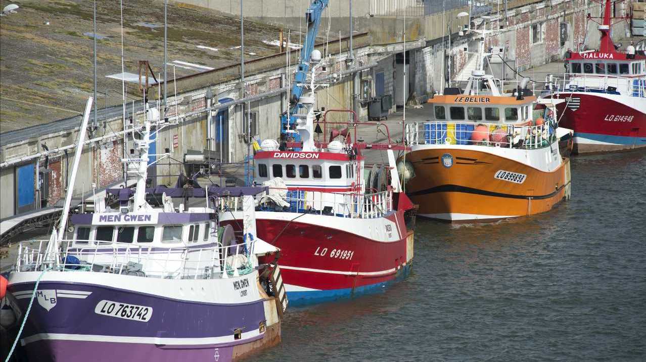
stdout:
[[604,6],[599,50],[571,53],[565,79],[543,93],[566,100],[559,106],[559,126],[574,130],[578,153],[646,147],[646,57],[632,46],[616,50],[610,0]]

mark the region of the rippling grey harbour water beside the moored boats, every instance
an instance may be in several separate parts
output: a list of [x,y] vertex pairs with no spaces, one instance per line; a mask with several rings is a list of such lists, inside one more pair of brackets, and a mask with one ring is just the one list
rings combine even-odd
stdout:
[[572,159],[572,200],[459,227],[419,220],[388,291],[288,310],[268,361],[645,361],[646,153]]

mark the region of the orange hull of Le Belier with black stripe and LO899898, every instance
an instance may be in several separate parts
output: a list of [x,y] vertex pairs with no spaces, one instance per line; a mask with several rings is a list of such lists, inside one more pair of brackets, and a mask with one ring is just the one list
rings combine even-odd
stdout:
[[543,213],[569,198],[568,158],[550,172],[473,149],[420,149],[406,160],[415,169],[406,193],[419,205],[419,216],[495,220]]

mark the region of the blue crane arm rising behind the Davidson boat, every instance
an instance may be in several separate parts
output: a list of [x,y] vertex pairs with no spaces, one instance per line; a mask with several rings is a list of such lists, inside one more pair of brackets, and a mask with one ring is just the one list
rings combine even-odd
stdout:
[[[298,99],[303,93],[303,86],[307,81],[307,71],[309,71],[309,60],[314,50],[314,44],[316,43],[318,26],[321,22],[321,17],[323,11],[328,7],[329,0],[313,0],[307,12],[305,13],[307,21],[307,35],[305,37],[305,44],[300,48],[300,63],[298,63],[298,69],[294,76],[294,84],[291,87],[291,93],[289,94],[289,111],[286,114],[283,114],[280,117],[280,133],[285,134],[288,128],[293,128],[295,120],[292,115],[298,110]],[[288,44],[289,46],[289,44]],[[289,77],[289,75],[287,75]],[[293,134],[296,141],[300,140],[298,134]]]

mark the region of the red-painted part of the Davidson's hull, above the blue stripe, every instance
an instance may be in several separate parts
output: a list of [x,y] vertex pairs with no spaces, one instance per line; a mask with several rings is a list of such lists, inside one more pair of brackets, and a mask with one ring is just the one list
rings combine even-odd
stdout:
[[[280,248],[280,269],[287,285],[318,291],[355,289],[392,281],[410,262],[407,255],[412,258],[412,251],[407,254],[409,233],[404,215],[402,211],[395,213],[396,218],[395,214],[388,217],[393,222],[396,219],[399,230],[393,233],[401,236],[394,242],[379,242],[317,224],[266,219],[258,214],[256,231],[259,238]],[[222,220],[222,224],[239,229],[237,225],[242,221]]]

